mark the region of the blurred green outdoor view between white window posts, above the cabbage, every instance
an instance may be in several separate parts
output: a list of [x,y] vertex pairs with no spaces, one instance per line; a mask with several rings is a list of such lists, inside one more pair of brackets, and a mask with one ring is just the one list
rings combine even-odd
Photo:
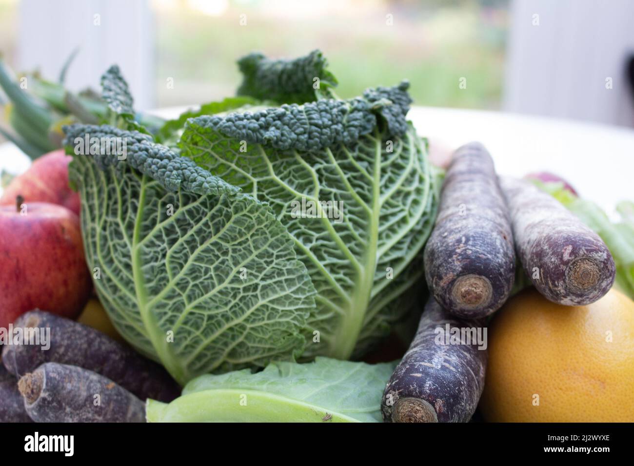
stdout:
[[[235,91],[236,57],[321,49],[342,97],[410,79],[417,105],[499,108],[508,0],[152,1],[160,106]],[[271,7],[275,4],[275,7]],[[246,15],[246,27],[238,25]],[[392,15],[392,25],[388,16]],[[458,87],[468,77],[469,92]]]

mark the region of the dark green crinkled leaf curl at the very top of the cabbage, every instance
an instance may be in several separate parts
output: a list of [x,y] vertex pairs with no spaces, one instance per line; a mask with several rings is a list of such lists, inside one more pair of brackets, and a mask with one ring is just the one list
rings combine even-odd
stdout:
[[[337,79],[326,68],[328,62],[321,51],[294,60],[270,60],[261,53],[251,53],[238,60],[243,81],[238,95],[278,103],[304,103],[328,96],[328,89],[337,86]],[[314,89],[314,79],[319,88]]]

